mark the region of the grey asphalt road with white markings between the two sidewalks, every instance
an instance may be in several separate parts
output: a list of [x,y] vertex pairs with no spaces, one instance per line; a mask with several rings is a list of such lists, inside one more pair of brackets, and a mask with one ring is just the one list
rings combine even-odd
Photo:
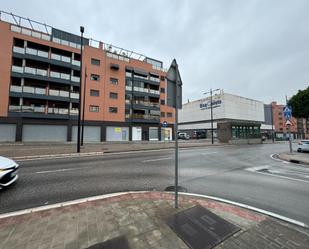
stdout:
[[[226,198],[309,225],[309,167],[275,161],[286,144],[180,150],[188,192]],[[174,183],[174,151],[21,161],[20,179],[0,191],[0,213],[100,194],[164,190]]]

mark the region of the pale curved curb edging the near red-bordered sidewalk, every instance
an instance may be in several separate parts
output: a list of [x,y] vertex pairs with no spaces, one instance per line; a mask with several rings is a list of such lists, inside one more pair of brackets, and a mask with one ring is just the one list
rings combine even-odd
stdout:
[[[156,193],[153,191],[128,191],[128,192],[117,192],[117,193],[112,193],[112,194],[105,194],[105,195],[98,195],[98,196],[93,196],[93,197],[88,197],[88,198],[82,198],[82,199],[77,199],[77,200],[73,200],[73,201],[66,201],[66,202],[62,202],[62,203],[56,203],[56,204],[51,204],[51,205],[46,205],[46,206],[40,206],[40,207],[36,207],[36,208],[30,208],[30,209],[24,209],[24,210],[20,210],[20,211],[14,211],[14,212],[9,212],[9,213],[4,213],[4,214],[0,214],[0,220],[1,219],[5,219],[5,218],[10,218],[10,217],[15,217],[15,216],[21,216],[21,215],[25,215],[25,214],[33,214],[36,212],[40,212],[40,211],[46,211],[46,210],[50,210],[50,209],[54,209],[54,208],[61,208],[61,207],[66,207],[66,206],[70,206],[70,205],[75,205],[75,204],[81,204],[81,203],[87,203],[87,202],[91,202],[91,201],[96,201],[96,200],[104,200],[104,199],[108,199],[108,198],[112,198],[112,197],[120,197],[123,195],[127,195],[127,194],[151,194],[151,193]],[[172,194],[172,192],[163,192],[160,191],[158,193],[169,193]],[[203,199],[209,199],[212,201],[217,201],[217,202],[221,202],[221,203],[225,203],[225,204],[229,204],[232,206],[236,206],[236,207],[240,207],[240,208],[244,208],[259,214],[263,214],[263,215],[267,215],[279,220],[282,220],[284,222],[288,222],[291,223],[293,225],[297,225],[303,228],[309,228],[309,226],[303,222],[270,212],[270,211],[266,211],[260,208],[256,208],[256,207],[252,207],[243,203],[238,203],[238,202],[234,202],[234,201],[230,201],[227,199],[223,199],[223,198],[219,198],[219,197],[215,197],[215,196],[209,196],[209,195],[201,195],[201,194],[193,194],[193,193],[184,193],[184,192],[179,192],[179,195],[183,195],[183,196],[189,196],[189,197],[199,197],[199,198],[203,198]]]

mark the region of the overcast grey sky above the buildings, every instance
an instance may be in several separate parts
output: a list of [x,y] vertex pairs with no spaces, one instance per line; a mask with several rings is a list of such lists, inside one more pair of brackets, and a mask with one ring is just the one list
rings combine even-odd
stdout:
[[309,82],[308,0],[1,0],[2,10],[162,60],[183,99],[209,88],[285,101]]

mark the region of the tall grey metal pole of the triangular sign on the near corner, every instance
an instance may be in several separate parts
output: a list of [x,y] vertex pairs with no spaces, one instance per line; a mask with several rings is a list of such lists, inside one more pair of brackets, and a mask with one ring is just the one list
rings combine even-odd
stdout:
[[178,65],[176,63],[176,87],[175,87],[175,208],[178,208]]

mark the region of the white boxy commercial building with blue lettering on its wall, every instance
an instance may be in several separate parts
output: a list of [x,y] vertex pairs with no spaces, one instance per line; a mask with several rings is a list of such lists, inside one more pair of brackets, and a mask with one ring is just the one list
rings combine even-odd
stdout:
[[[218,131],[218,137],[220,137],[218,125],[227,122],[231,130],[228,141],[233,138],[249,139],[260,136],[260,126],[264,122],[263,102],[221,90],[219,94],[213,95],[212,106],[213,128]],[[196,136],[201,132],[206,134],[211,130],[210,97],[183,104],[182,109],[179,110],[179,130],[186,131],[191,136]],[[207,137],[209,134],[208,132]]]

